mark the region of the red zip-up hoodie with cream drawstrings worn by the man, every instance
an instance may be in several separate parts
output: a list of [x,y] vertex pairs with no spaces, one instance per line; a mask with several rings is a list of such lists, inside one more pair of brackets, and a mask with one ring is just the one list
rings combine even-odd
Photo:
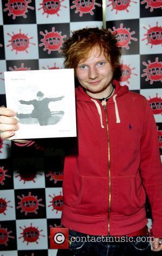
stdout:
[[62,224],[91,235],[125,235],[146,223],[162,237],[162,170],[157,128],[142,95],[113,81],[102,106],[76,89],[78,153],[65,157]]

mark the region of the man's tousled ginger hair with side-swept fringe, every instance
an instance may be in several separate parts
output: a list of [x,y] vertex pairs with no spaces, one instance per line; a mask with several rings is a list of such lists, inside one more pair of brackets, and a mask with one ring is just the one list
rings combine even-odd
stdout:
[[121,48],[111,31],[99,28],[84,28],[72,31],[71,37],[64,41],[62,52],[65,68],[77,68],[80,60],[85,61],[93,47],[99,47],[112,65],[113,71],[119,66]]

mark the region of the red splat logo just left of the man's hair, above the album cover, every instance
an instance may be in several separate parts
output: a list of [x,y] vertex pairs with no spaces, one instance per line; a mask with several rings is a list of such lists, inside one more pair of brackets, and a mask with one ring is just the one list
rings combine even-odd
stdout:
[[61,34],[62,32],[55,31],[55,27],[52,28],[51,32],[45,30],[45,34],[43,33],[43,31],[40,31],[40,35],[44,36],[44,38],[40,40],[40,42],[42,43],[39,44],[39,47],[44,46],[43,50],[48,50],[48,54],[50,54],[51,51],[60,52],[60,47],[62,46],[63,38],[66,37],[66,35],[61,36]]

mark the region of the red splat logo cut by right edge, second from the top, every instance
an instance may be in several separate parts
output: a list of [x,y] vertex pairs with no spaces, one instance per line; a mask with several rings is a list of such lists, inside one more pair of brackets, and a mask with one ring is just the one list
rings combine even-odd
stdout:
[[[142,39],[142,41],[147,40],[147,44],[151,44],[151,48],[153,45],[162,44],[162,27],[158,27],[158,22],[156,27],[152,27],[149,25],[149,29],[144,27],[147,30],[147,33],[144,34],[146,36]],[[146,44],[146,45],[147,45]]]

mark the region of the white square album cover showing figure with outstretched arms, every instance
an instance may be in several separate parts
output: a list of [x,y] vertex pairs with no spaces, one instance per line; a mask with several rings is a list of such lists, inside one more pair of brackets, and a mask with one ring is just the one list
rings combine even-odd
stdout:
[[4,77],[7,107],[19,120],[10,139],[76,136],[73,69],[6,71]]

